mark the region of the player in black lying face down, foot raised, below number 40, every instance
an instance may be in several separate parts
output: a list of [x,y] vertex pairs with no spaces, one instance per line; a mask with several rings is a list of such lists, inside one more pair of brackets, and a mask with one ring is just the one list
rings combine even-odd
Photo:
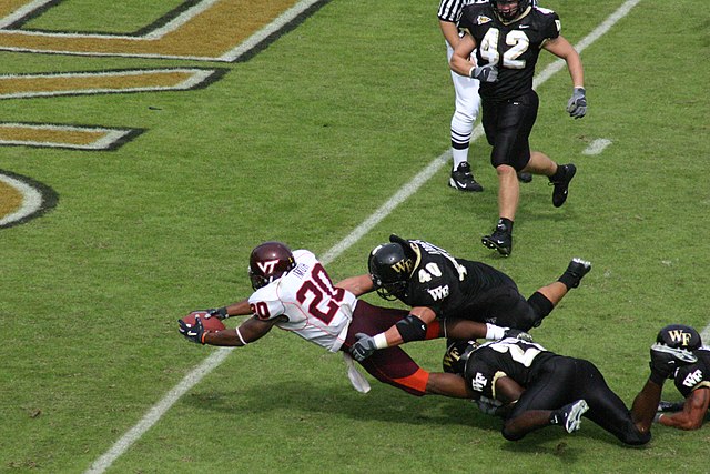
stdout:
[[444,370],[458,373],[478,394],[479,406],[500,406],[503,436],[521,440],[528,433],[561,425],[572,433],[588,417],[629,445],[651,440],[659,389],[677,367],[694,359],[688,351],[666,344],[651,346],[651,377],[629,411],[589,361],[550,352],[539,344],[516,339],[456,342],[444,356]]

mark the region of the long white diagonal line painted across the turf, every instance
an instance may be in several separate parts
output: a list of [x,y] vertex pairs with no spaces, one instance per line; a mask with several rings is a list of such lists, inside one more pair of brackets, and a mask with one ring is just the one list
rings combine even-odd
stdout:
[[[613,27],[619,20],[628,14],[628,12],[640,2],[641,0],[627,0],[615,11],[604,23],[597,27],[591,33],[585,37],[579,43],[577,43],[577,51],[581,52],[585,48],[598,40],[602,34]],[[565,61],[558,60],[549,64],[540,72],[534,81],[535,87],[539,87],[551,78],[565,65]],[[476,127],[471,135],[471,140],[478,139],[483,134],[480,125]],[[399,189],[387,202],[379,206],[369,218],[367,218],[362,224],[355,228],[345,239],[336,243],[331,250],[323,254],[321,259],[324,264],[328,264],[339,254],[349,249],[355,242],[357,242],[363,235],[366,235],[377,223],[384,218],[389,215],[394,209],[406,201],[412,194],[415,193],[425,182],[427,182],[434,174],[438,172],[444,164],[448,162],[450,152],[447,151],[442,155],[435,158],[423,171],[417,173],[416,177],[402,189]],[[133,443],[135,443],[151,426],[153,426],[161,416],[187,391],[190,391],[197,382],[205,375],[217,367],[222,361],[229,355],[232,349],[220,349],[212,353],[203,363],[196,366],[190,372],[174,389],[172,389],[156,405],[154,405],[141,421],[129,430],[115,444],[101,457],[99,457],[87,473],[103,473],[108,470],[113,462],[119,458]]]

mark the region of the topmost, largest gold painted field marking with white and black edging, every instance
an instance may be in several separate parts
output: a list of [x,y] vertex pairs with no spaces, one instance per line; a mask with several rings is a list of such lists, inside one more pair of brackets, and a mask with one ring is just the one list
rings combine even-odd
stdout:
[[231,62],[327,1],[271,0],[257,8],[250,0],[185,2],[162,23],[128,34],[18,29],[36,10],[55,2],[37,0],[19,11],[0,7],[0,14],[7,14],[0,18],[0,50]]

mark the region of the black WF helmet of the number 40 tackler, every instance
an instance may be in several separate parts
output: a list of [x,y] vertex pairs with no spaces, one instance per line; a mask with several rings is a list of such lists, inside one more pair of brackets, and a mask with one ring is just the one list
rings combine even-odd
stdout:
[[396,241],[373,249],[367,268],[377,294],[392,301],[404,294],[407,281],[414,271],[416,254],[405,240],[396,235],[390,236],[389,240]]

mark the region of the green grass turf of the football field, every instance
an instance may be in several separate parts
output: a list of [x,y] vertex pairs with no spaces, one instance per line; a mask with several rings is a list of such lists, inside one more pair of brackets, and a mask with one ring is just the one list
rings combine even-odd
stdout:
[[[202,3],[65,0],[0,31],[139,34],[169,10]],[[295,2],[264,6],[284,3]],[[541,3],[572,44],[629,4]],[[233,23],[267,10],[234,4],[245,11]],[[280,330],[227,352],[179,335],[178,317],[250,294],[247,258],[262,241],[310,249],[339,280],[364,273],[390,233],[491,264],[526,295],[572,256],[590,260],[591,273],[532,335],[596,363],[627,404],[661,326],[708,326],[710,39],[707,18],[688,14],[697,1],[640,0],[585,46],[585,119],[565,112],[565,68],[538,87],[531,144],[578,173],[560,209],[547,180],[521,186],[509,259],[480,244],[497,219],[483,138],[471,165],[485,192],[446,185],[454,91],[437,4],[317,2],[235,61],[205,59],[211,43],[184,57],[196,49],[190,41],[165,57],[103,56],[109,39],[77,56],[2,48],[0,36],[0,125],[132,131],[110,150],[81,150],[10,145],[0,130],[0,175],[59,196],[42,216],[0,228],[0,472],[708,472],[708,427],[655,426],[651,443],[628,448],[584,421],[574,435],[550,427],[510,443],[500,421],[469,402],[417,399],[372,377],[359,394],[339,355]],[[538,72],[554,59],[542,52]],[[99,73],[168,69],[209,78],[97,93],[124,80]],[[95,82],[81,93],[8,97],[14,77],[71,72],[97,73]],[[588,154],[598,140],[610,144]],[[407,351],[438,371],[444,345]],[[678,397],[668,384],[665,399]]]

